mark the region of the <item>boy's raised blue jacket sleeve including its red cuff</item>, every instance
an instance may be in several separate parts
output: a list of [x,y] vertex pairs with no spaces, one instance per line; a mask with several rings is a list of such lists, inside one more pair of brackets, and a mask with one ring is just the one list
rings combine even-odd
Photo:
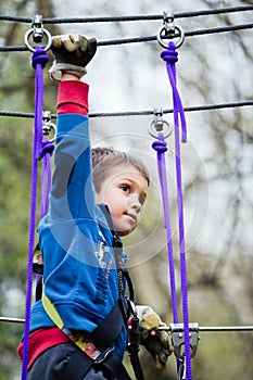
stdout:
[[88,85],[63,81],[59,87],[58,132],[50,216],[65,221],[94,217]]

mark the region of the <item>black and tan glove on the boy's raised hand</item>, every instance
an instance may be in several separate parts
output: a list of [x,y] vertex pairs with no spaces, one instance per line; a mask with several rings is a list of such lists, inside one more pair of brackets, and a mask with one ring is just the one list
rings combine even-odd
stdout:
[[62,72],[71,73],[79,78],[87,71],[87,64],[92,60],[97,50],[97,40],[87,39],[80,35],[62,35],[52,38],[51,51],[55,58],[49,69],[51,79],[60,81]]

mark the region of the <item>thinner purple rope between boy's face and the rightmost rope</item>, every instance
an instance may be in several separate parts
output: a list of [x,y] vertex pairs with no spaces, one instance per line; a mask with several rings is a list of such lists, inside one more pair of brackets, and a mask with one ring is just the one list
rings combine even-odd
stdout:
[[169,281],[170,281],[170,292],[172,292],[173,320],[174,320],[174,324],[178,324],[176,276],[175,276],[175,265],[174,265],[172,227],[170,227],[170,220],[169,220],[169,201],[168,201],[168,189],[167,189],[167,179],[166,179],[166,163],[165,163],[165,154],[164,154],[167,151],[167,143],[165,142],[164,135],[162,132],[159,134],[159,140],[152,143],[152,148],[157,152],[157,169],[159,169],[159,178],[160,178],[162,200],[163,200],[164,221],[165,221],[166,240],[167,240],[167,254],[168,254],[168,263],[169,263]]

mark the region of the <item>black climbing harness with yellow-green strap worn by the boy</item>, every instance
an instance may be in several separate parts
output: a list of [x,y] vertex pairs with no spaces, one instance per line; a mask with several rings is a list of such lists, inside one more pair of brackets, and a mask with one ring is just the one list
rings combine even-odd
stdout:
[[[80,354],[77,352],[74,358],[68,362],[66,373],[72,373],[72,368],[74,363],[76,363],[77,356],[81,362],[78,365],[80,380],[84,378],[85,373],[87,373],[91,366],[99,366],[101,368],[105,368],[110,376],[114,375],[117,377],[118,380],[130,380],[122,362],[114,355],[113,349],[110,347],[111,343],[117,338],[117,335],[125,326],[129,331],[127,350],[129,353],[134,372],[136,375],[136,379],[144,380],[138,356],[140,335],[139,319],[137,317],[137,312],[134,304],[135,293],[132,282],[128,270],[125,268],[124,263],[122,261],[122,240],[113,226],[113,221],[106,205],[101,204],[100,208],[105,215],[109,228],[113,236],[113,249],[118,275],[119,299],[116,302],[115,306],[112,308],[111,313],[91,334],[87,334],[83,331],[77,332],[65,328],[63,320],[59,315],[56,308],[54,307],[53,303],[42,292],[41,282],[37,284],[37,288],[39,287],[38,289],[36,289],[37,297],[41,297],[45,311],[47,312],[48,316],[52,319],[54,325],[83,352],[83,356],[80,356]],[[39,248],[37,248],[37,250],[39,250]],[[40,262],[40,264],[37,263],[37,266],[34,266],[34,268],[35,270],[37,270],[37,273],[39,271],[40,274],[42,274],[42,262]],[[129,299],[127,299],[124,295],[124,279],[126,279],[128,284]]]

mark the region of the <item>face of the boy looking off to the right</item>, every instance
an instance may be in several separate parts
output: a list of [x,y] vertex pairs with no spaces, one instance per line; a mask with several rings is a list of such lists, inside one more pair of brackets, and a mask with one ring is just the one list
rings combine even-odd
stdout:
[[122,164],[110,172],[96,192],[96,203],[109,205],[114,227],[121,237],[138,226],[141,207],[147,199],[148,181],[131,164]]

